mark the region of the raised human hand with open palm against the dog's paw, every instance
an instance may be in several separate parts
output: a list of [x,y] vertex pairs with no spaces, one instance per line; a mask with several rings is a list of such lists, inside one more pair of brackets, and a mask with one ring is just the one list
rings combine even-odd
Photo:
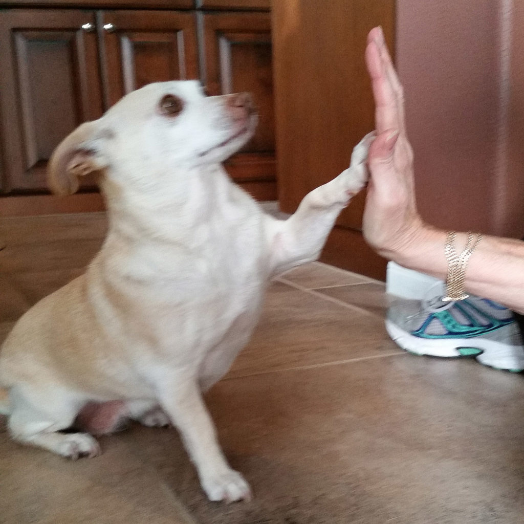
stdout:
[[381,28],[372,29],[367,42],[377,137],[369,149],[363,234],[380,255],[396,260],[417,241],[425,226],[415,201],[413,152],[406,136],[402,85]]

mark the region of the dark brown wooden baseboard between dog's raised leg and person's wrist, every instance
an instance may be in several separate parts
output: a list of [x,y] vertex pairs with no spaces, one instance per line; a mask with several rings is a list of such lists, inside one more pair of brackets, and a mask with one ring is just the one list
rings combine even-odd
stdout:
[[386,280],[387,260],[378,256],[358,231],[335,226],[320,259],[366,277]]

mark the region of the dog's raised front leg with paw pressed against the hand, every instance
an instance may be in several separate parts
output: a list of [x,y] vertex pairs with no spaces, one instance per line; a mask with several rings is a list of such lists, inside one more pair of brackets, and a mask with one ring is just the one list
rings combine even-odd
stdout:
[[286,221],[269,224],[271,274],[316,260],[333,228],[336,217],[367,180],[367,151],[374,133],[353,149],[351,165],[330,182],[307,195]]

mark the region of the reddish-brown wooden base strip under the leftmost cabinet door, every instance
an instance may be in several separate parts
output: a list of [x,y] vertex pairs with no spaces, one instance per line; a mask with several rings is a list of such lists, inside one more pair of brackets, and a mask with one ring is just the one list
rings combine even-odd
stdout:
[[104,210],[104,200],[100,193],[80,193],[69,196],[5,196],[0,198],[0,216],[53,215]]

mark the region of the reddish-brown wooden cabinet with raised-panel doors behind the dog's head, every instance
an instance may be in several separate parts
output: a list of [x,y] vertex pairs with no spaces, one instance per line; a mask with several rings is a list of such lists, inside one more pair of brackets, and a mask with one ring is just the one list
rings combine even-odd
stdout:
[[[0,194],[48,195],[53,149],[124,94],[150,82],[201,79],[210,94],[253,93],[257,133],[226,169],[256,198],[276,199],[270,15],[259,10],[267,2],[31,4],[41,5],[0,10]],[[168,5],[188,9],[148,8]],[[89,181],[82,187],[93,190]]]

